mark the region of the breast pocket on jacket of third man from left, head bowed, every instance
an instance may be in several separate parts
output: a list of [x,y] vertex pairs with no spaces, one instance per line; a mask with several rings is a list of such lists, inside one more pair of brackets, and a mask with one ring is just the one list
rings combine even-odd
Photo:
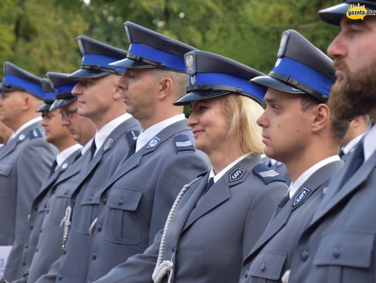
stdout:
[[61,184],[58,186],[58,188],[56,188],[54,195],[52,195],[49,201],[49,219],[55,225],[59,225],[61,223],[61,220],[65,216],[65,209],[72,205],[71,200],[72,194],[75,191],[74,186],[74,183]]

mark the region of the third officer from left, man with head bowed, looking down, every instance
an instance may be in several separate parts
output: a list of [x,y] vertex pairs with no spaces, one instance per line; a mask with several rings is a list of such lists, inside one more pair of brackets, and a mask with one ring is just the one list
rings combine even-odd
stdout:
[[[51,195],[47,202],[47,211],[43,218],[42,227],[33,260],[29,265],[27,282],[35,282],[41,275],[47,273],[52,262],[56,261],[62,253],[62,244],[69,232],[70,218],[72,213],[72,195],[79,182],[79,172],[83,170],[85,154],[90,149],[91,141],[95,135],[95,124],[88,118],[77,114],[77,97],[72,95],[72,88],[77,79],[68,77],[68,74],[47,72],[47,77],[54,83],[56,88],[56,100],[50,111],[60,111],[61,124],[66,127],[72,138],[83,146],[75,161],[54,182]],[[70,207],[70,208],[68,208]],[[68,210],[67,210],[68,208]],[[63,229],[61,229],[61,220]]]

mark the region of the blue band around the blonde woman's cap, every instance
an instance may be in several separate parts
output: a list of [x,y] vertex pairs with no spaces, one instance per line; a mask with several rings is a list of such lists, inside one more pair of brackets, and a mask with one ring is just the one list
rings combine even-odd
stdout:
[[196,85],[210,85],[210,86],[232,86],[234,88],[242,88],[242,92],[256,97],[260,102],[264,101],[266,90],[258,88],[258,86],[249,83],[249,80],[233,76],[230,74],[219,73],[196,73],[194,75],[196,81],[192,85],[191,79],[189,80],[190,86]]

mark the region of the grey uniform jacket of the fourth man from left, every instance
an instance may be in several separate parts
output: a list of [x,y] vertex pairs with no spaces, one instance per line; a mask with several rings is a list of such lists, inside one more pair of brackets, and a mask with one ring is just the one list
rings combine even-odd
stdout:
[[[102,145],[101,149],[95,154],[93,160],[88,164],[87,168],[81,170],[80,181],[77,185],[77,196],[74,195],[73,202],[75,206],[72,212],[72,227],[66,243],[66,250],[61,259],[54,264],[54,268],[50,268],[48,274],[40,277],[36,282],[62,282],[61,273],[57,274],[57,270],[76,270],[84,268],[88,264],[88,247],[91,243],[91,236],[88,235],[88,229],[97,217],[97,210],[100,198],[97,195],[104,188],[107,181],[113,175],[118,165],[127,156],[130,149],[130,136],[138,136],[141,126],[137,120],[130,118],[121,123]],[[133,133],[133,134],[131,134]],[[136,133],[136,134],[134,134]],[[86,159],[90,156],[90,150],[86,153]],[[68,271],[67,271],[68,272]],[[76,273],[72,275],[73,279],[69,282],[81,282]]]

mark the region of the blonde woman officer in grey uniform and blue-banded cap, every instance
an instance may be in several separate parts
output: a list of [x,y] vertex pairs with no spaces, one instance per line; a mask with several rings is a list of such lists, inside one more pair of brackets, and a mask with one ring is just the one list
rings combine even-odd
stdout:
[[287,192],[260,158],[265,90],[248,81],[261,73],[205,51],[185,54],[185,65],[188,94],[174,104],[191,104],[187,123],[212,168],[182,189],[143,254],[97,282],[237,282],[243,254]]

